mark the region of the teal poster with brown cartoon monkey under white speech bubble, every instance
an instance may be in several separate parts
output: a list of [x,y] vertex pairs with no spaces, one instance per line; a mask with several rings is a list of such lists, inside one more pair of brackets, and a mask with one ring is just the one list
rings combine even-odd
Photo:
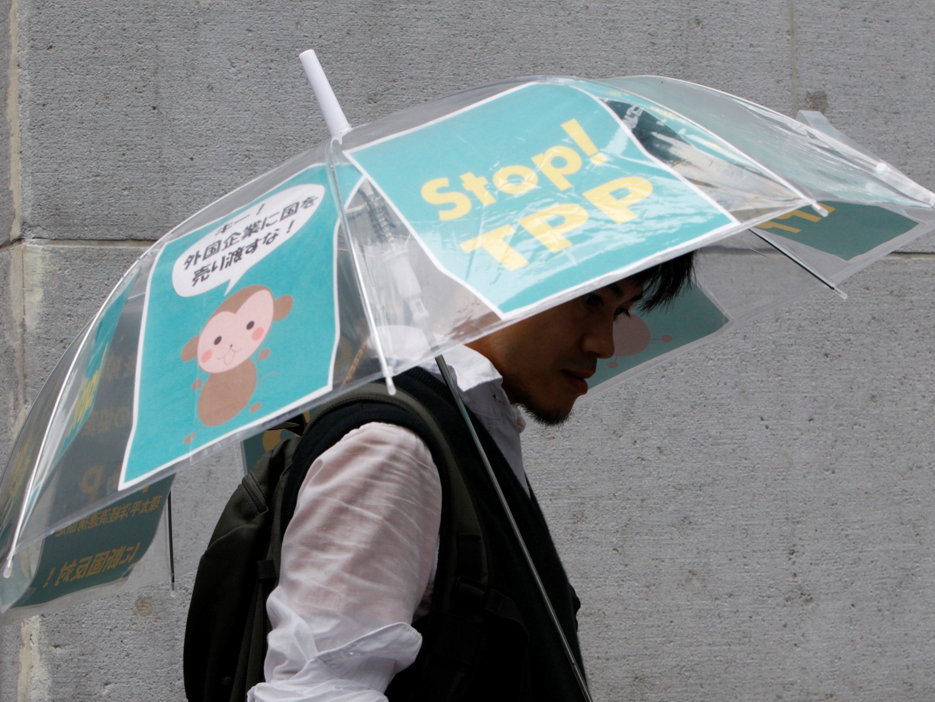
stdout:
[[337,224],[316,165],[165,245],[143,313],[121,489],[331,389]]

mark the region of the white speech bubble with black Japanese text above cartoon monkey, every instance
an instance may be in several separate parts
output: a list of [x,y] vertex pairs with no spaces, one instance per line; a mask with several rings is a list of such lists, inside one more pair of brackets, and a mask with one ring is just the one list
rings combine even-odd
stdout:
[[324,185],[305,183],[238,212],[176,259],[175,291],[191,298],[228,283],[227,295],[245,272],[294,237],[323,199]]

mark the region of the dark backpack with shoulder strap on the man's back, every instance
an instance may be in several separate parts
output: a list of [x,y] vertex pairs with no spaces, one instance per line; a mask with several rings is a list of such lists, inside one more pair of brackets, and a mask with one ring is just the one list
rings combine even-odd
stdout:
[[[487,587],[480,521],[451,446],[422,404],[402,389],[390,396],[382,383],[371,383],[325,403],[308,426],[302,417],[292,421],[282,426],[302,435],[268,451],[243,478],[198,564],[183,653],[185,694],[191,702],[242,702],[264,680],[270,631],[266,598],[279,580],[282,534],[295,511],[298,490],[319,455],[347,431],[370,421],[393,423],[419,435],[442,483],[443,534],[450,538],[440,546],[453,558],[445,559],[451,567],[439,569],[436,576],[439,607],[433,602],[432,619],[440,627],[439,636],[433,650],[422,651],[417,662],[424,669],[424,659],[435,657],[420,696],[437,702],[457,696],[482,639],[490,636],[487,622],[492,618],[522,645],[522,617],[509,597]],[[503,638],[499,630],[496,636]]]

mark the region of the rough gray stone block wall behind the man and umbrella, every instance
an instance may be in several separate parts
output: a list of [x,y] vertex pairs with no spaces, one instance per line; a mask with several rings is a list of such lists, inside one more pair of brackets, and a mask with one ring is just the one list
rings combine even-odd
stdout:
[[[515,75],[663,74],[822,110],[935,188],[923,0],[3,0],[0,18],[4,456],[144,247],[325,138],[307,48],[352,124]],[[598,699],[935,698],[932,252],[525,434]],[[206,519],[237,470],[187,478],[217,495]],[[183,698],[190,584],[0,627],[0,701]]]

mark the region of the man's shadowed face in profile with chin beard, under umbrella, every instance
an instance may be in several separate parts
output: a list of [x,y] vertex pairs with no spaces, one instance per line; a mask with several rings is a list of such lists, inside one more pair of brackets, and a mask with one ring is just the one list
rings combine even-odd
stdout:
[[613,320],[629,314],[641,296],[642,285],[626,278],[468,346],[494,364],[510,402],[558,424],[587,392],[597,358],[613,356]]

